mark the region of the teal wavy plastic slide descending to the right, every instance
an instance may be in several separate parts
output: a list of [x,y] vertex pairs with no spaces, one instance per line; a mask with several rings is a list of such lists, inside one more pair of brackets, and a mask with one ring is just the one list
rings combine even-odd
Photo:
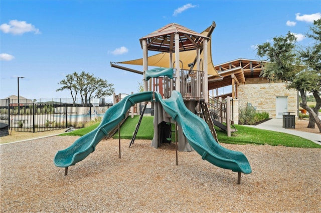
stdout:
[[162,99],[161,95],[155,92],[155,99],[160,101],[165,111],[181,125],[185,137],[203,160],[232,171],[246,174],[252,172],[246,156],[242,152],[221,146],[213,138],[207,123],[185,106],[180,92],[173,90],[168,99]]

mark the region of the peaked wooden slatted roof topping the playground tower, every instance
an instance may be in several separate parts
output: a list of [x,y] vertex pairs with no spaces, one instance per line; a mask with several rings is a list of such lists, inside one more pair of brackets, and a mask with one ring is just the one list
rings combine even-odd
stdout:
[[176,33],[180,35],[180,51],[203,48],[204,38],[209,38],[180,24],[170,23],[141,37],[139,39],[140,45],[142,47],[142,40],[146,39],[148,50],[174,52]]

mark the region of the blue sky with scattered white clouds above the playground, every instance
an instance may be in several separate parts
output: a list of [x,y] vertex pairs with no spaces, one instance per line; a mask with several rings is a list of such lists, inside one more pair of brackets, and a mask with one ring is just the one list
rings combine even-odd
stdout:
[[0,98],[18,94],[18,76],[25,77],[20,95],[29,99],[71,97],[56,89],[75,71],[106,79],[116,93],[137,92],[142,75],[110,61],[141,58],[139,38],[169,23],[202,32],[215,21],[212,59],[219,64],[258,59],[257,44],[288,31],[307,45],[304,33],[320,17],[318,0],[1,0]]

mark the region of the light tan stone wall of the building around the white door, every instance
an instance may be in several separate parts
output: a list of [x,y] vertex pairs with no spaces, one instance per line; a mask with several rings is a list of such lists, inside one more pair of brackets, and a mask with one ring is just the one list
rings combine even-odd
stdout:
[[276,117],[276,97],[287,97],[287,110],[297,116],[297,91],[286,89],[285,83],[258,83],[241,84],[238,86],[239,107],[246,107],[249,102],[257,111],[266,111],[270,118]]

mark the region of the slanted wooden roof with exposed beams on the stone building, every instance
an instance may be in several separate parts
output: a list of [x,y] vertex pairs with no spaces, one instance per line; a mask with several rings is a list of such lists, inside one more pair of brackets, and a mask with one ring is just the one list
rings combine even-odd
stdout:
[[242,84],[246,78],[259,77],[262,71],[260,60],[245,58],[217,64],[214,67],[223,79],[217,76],[209,76],[209,89],[232,85],[233,81],[238,85]]

